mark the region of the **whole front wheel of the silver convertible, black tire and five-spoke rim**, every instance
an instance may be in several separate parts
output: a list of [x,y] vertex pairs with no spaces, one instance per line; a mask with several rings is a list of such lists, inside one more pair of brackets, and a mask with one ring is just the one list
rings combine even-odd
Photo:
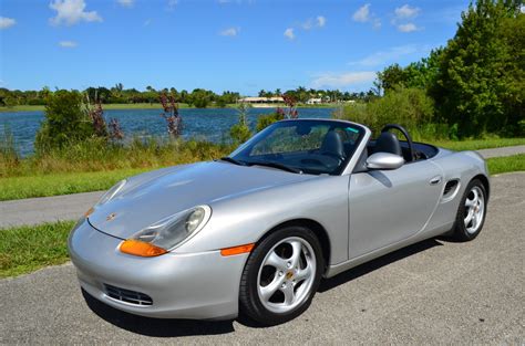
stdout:
[[321,245],[311,230],[287,227],[270,233],[246,262],[240,313],[261,325],[294,319],[310,306],[322,269]]

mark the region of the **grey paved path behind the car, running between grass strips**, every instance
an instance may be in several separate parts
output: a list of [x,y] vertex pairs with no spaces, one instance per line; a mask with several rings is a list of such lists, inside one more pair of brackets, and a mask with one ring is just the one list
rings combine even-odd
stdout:
[[[484,158],[525,153],[525,145],[478,150]],[[103,191],[28,198],[0,202],[0,229],[58,220],[76,220],[103,195]]]

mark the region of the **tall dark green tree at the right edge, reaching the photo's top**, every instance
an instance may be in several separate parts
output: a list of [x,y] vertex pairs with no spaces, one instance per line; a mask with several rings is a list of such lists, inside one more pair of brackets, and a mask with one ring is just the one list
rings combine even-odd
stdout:
[[[523,115],[524,46],[523,38],[508,35],[523,32],[523,15],[519,1],[503,0],[478,0],[462,13],[431,91],[439,114],[449,124],[457,124],[461,137],[517,127],[518,119],[512,114],[522,109]],[[509,41],[518,45],[512,48]],[[521,61],[513,55],[516,53]],[[514,74],[519,70],[521,82]]]

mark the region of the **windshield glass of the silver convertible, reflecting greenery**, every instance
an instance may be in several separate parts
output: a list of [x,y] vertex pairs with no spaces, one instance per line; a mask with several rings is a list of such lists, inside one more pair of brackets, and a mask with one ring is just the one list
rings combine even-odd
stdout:
[[363,134],[363,128],[344,122],[278,122],[245,143],[229,158],[247,166],[338,175],[352,157]]

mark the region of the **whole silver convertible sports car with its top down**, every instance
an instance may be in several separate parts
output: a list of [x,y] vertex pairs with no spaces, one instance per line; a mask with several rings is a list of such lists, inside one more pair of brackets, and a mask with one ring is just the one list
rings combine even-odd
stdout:
[[271,325],[307,310],[321,276],[440,234],[474,239],[488,195],[476,153],[399,125],[371,140],[350,122],[282,120],[228,157],[119,182],[69,251],[82,289],[119,310]]

